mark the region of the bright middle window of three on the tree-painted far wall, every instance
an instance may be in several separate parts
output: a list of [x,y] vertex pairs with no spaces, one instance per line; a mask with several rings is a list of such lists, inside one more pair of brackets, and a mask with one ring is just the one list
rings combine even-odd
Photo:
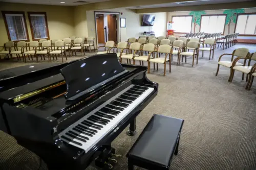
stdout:
[[226,15],[201,15],[200,32],[224,34]]

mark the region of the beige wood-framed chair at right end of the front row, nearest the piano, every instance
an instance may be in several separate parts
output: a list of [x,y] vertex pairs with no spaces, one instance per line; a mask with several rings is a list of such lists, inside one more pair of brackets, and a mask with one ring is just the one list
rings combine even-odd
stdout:
[[[163,58],[160,58],[158,57],[158,54],[159,53],[164,53],[165,54],[165,57]],[[166,62],[169,61],[169,72],[170,72],[170,55],[173,53],[173,48],[172,46],[170,45],[160,45],[158,47],[158,50],[157,50],[157,58],[153,58],[153,59],[150,59],[148,61],[148,70],[147,70],[147,73],[150,73],[150,63],[153,62],[153,63],[157,63],[157,70],[158,70],[158,63],[161,63],[161,64],[164,64],[164,71],[163,71],[163,76],[165,76],[165,71],[166,71]],[[167,58],[167,56],[169,56],[169,58]]]

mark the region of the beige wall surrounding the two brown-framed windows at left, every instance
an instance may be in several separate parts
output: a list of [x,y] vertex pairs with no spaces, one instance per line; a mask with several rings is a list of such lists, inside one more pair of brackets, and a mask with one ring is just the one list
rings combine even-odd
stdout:
[[[32,35],[27,12],[46,12],[50,39],[63,39],[75,34],[73,7],[0,3],[0,11],[24,11],[30,41],[32,41]],[[9,41],[2,14],[0,15],[0,35],[0,46],[2,46]]]

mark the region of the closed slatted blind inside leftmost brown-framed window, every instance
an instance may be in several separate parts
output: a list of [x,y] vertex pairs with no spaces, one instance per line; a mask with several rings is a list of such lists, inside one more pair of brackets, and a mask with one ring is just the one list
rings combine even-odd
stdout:
[[5,14],[11,41],[27,40],[23,14]]

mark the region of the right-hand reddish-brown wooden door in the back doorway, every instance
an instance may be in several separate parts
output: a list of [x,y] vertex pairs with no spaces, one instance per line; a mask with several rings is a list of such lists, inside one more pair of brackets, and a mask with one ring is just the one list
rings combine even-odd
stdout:
[[108,40],[117,42],[117,21],[116,21],[116,15],[108,15],[108,28],[109,28],[109,34],[108,34]]

